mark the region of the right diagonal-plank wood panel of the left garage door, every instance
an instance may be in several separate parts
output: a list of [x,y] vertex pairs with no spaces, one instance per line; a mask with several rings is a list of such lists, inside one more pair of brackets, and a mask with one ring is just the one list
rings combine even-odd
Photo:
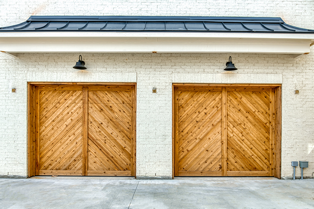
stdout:
[[88,92],[88,175],[131,175],[131,91]]

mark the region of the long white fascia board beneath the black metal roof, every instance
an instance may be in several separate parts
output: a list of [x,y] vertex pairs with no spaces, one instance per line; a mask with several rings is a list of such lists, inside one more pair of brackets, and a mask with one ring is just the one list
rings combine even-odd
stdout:
[[179,32],[3,32],[3,52],[310,52],[314,34]]

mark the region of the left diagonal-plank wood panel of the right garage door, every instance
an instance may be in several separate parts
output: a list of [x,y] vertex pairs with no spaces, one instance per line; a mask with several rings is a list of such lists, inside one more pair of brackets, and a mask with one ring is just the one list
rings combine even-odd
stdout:
[[178,175],[221,176],[221,92],[178,94]]

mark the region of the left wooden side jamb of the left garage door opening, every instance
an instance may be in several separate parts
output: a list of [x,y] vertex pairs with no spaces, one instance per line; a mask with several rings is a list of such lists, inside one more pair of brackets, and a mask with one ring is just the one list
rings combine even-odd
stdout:
[[35,175],[35,130],[34,130],[34,86],[28,83],[27,85],[28,91],[28,123],[27,123],[27,170],[28,177]]

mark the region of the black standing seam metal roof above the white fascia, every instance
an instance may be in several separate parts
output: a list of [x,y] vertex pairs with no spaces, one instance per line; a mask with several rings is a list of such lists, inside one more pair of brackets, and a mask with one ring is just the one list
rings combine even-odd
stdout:
[[314,33],[272,17],[31,16],[0,27],[0,32],[34,31]]

